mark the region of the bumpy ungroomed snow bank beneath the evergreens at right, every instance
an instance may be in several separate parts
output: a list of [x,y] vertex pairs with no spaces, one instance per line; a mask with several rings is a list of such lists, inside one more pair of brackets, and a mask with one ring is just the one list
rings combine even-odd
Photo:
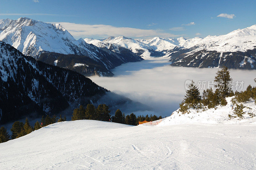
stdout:
[[[229,124],[240,124],[240,125],[256,125],[256,116],[251,117],[248,113],[256,114],[256,104],[254,101],[243,104],[245,108],[243,111],[244,119],[228,117],[230,114],[234,116],[234,110],[232,110],[231,99],[233,97],[227,97],[228,104],[226,106],[217,106],[217,108],[207,110],[195,110],[189,109],[187,113],[182,114],[179,109],[172,113],[171,116],[165,118],[158,126],[184,124],[184,123],[200,123],[200,124],[218,124],[218,125],[229,125]],[[233,106],[235,107],[235,106]]]

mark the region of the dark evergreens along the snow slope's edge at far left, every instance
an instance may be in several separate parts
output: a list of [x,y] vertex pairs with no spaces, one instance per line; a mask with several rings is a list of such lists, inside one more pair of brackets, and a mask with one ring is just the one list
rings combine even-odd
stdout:
[[52,117],[47,115],[45,118],[44,118],[44,116],[42,116],[41,122],[39,123],[38,121],[36,121],[34,127],[30,126],[28,118],[26,118],[25,123],[20,122],[20,121],[15,121],[12,124],[12,128],[11,128],[12,135],[9,135],[6,128],[4,128],[4,127],[0,128],[0,143],[7,142],[11,139],[16,139],[21,136],[27,135],[27,134],[33,132],[34,130],[38,130],[44,126],[48,126],[50,124],[53,124],[56,122],[62,122],[62,121],[66,121],[66,120],[67,120],[66,116],[64,116],[64,118],[62,118],[61,115],[60,115],[60,118],[57,118],[56,115],[53,115]]

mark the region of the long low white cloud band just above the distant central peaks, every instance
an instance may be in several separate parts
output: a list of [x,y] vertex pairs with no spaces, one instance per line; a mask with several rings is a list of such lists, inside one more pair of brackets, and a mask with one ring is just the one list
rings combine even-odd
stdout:
[[86,37],[108,37],[108,36],[127,36],[136,38],[150,38],[155,36],[160,37],[177,37],[166,33],[161,29],[138,29],[131,27],[114,27],[111,25],[88,25],[88,24],[75,24],[69,22],[59,22],[61,26],[68,30],[68,32],[75,38]]

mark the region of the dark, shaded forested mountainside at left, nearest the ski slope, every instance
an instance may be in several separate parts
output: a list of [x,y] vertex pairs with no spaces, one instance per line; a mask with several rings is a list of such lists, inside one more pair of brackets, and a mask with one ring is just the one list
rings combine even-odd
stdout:
[[36,61],[0,41],[0,122],[58,114],[70,104],[94,103],[106,89],[82,74]]

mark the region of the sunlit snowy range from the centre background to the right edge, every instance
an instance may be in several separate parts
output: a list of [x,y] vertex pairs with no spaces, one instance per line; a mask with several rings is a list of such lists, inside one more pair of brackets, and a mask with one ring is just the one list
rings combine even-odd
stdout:
[[256,25],[205,38],[154,37],[144,40],[120,36],[99,40],[86,38],[84,41],[98,47],[114,43],[132,50],[142,58],[170,57],[171,66],[256,69]]

